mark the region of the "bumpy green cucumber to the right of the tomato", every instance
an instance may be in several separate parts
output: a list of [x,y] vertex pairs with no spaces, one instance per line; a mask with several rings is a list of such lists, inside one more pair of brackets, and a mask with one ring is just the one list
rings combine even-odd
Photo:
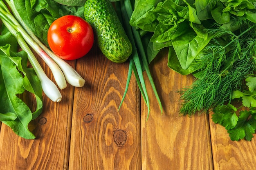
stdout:
[[85,20],[92,26],[99,49],[109,60],[125,62],[132,44],[109,0],[87,0]]

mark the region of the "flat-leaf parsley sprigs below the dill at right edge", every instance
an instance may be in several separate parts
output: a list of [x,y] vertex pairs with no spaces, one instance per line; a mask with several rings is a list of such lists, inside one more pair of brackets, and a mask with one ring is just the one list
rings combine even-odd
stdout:
[[[246,79],[247,82],[251,83],[254,77],[249,77]],[[247,86],[249,88],[250,84]],[[246,140],[252,140],[252,137],[256,130],[256,100],[254,97],[256,94],[255,89],[251,88],[251,91],[234,91],[232,99],[242,98],[242,106],[244,110],[239,111],[235,106],[219,105],[213,109],[214,114],[212,115],[212,120],[224,126],[229,133],[231,140],[240,140],[245,138]],[[239,108],[241,108],[240,106]]]

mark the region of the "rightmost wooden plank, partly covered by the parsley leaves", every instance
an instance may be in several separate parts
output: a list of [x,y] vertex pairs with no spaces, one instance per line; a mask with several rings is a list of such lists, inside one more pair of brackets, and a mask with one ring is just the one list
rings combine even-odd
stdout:
[[215,124],[209,114],[214,170],[255,170],[256,135],[252,141],[231,141],[225,127]]

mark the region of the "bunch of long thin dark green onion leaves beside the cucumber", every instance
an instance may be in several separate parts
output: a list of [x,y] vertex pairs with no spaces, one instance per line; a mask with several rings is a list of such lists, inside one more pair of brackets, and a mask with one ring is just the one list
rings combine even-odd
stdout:
[[[126,82],[126,89],[125,89],[125,93],[124,93],[123,99],[121,101],[121,104],[124,100],[124,97],[126,95],[127,88],[128,88],[129,82],[130,82],[130,76],[131,76],[130,70],[133,69],[133,72],[135,73],[135,78],[137,80],[137,84],[141,91],[141,95],[144,98],[146,105],[148,106],[148,116],[149,116],[150,104],[149,104],[148,93],[147,93],[146,84],[145,84],[144,77],[143,77],[143,70],[142,70],[142,68],[145,68],[146,74],[150,81],[150,85],[153,88],[155,97],[157,98],[157,101],[159,103],[161,113],[162,113],[162,104],[161,104],[160,98],[158,96],[157,90],[155,88],[155,84],[154,84],[152,75],[150,73],[148,61],[146,58],[146,53],[144,51],[144,46],[141,42],[141,35],[138,30],[136,30],[134,27],[130,26],[130,24],[129,24],[130,17],[133,12],[131,2],[130,2],[130,0],[124,0],[124,1],[121,1],[121,5],[118,3],[119,2],[116,2],[116,4],[117,4],[116,7],[120,7],[121,10],[117,10],[117,11],[121,11],[120,13],[122,15],[123,25],[124,25],[124,28],[126,29],[128,38],[130,39],[130,41],[132,43],[132,50],[133,50],[132,55],[130,56],[128,79]],[[137,49],[138,49],[138,51],[137,51]],[[142,61],[142,66],[141,66],[141,61]],[[121,104],[120,104],[120,106],[121,106]],[[119,106],[119,108],[120,108],[120,106]],[[148,117],[147,117],[147,119],[148,119]]]

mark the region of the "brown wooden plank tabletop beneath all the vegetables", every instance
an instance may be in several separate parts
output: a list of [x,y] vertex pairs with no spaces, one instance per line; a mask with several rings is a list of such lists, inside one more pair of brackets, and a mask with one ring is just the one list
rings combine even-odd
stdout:
[[85,57],[69,61],[85,78],[85,86],[68,85],[59,103],[43,96],[43,113],[29,126],[34,140],[22,139],[2,124],[0,170],[256,170],[255,135],[252,141],[231,141],[211,113],[179,115],[176,91],[190,85],[193,76],[175,73],[167,60],[167,51],[162,51],[150,64],[162,115],[145,76],[148,120],[134,76],[118,111],[128,62],[110,62],[95,45]]

